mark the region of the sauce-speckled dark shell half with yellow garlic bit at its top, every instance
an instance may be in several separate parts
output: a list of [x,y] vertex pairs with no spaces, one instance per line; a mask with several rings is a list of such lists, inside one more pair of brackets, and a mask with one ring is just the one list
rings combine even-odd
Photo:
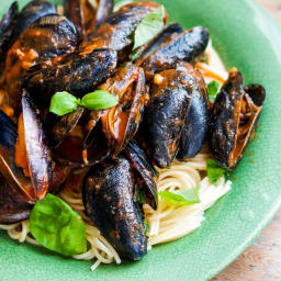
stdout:
[[165,70],[151,86],[142,130],[148,155],[160,168],[169,167],[176,157],[191,97],[190,76],[186,71]]

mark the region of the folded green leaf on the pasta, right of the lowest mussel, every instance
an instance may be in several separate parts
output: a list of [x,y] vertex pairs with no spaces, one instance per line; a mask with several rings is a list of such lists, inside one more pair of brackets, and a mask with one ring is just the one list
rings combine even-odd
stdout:
[[160,191],[159,195],[166,202],[172,203],[178,206],[192,205],[200,203],[199,198],[200,186],[193,189],[176,190],[171,191]]

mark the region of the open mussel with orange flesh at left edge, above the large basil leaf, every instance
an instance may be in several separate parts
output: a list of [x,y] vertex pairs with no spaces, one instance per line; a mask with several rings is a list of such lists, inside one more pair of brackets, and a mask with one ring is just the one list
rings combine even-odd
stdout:
[[26,92],[22,110],[19,135],[14,123],[0,111],[0,167],[13,190],[32,203],[48,191],[53,162],[38,112]]

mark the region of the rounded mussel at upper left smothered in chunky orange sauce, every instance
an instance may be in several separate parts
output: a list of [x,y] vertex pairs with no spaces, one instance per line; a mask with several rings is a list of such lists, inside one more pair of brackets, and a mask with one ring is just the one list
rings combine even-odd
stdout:
[[61,15],[46,15],[25,30],[8,52],[4,78],[10,105],[19,111],[21,79],[32,67],[64,54],[78,46],[75,25]]

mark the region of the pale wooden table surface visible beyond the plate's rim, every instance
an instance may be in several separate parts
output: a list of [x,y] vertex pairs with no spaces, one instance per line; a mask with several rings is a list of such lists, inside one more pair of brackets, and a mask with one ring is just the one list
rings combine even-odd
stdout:
[[[281,0],[257,0],[281,24]],[[212,281],[281,281],[281,211],[259,238]]]

